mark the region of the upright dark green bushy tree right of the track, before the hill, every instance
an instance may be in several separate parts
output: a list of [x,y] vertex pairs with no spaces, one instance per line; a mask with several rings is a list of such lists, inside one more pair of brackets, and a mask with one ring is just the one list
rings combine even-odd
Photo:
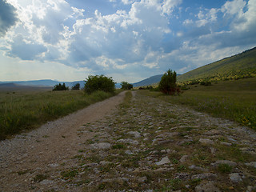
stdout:
[[159,90],[164,94],[175,94],[180,93],[180,89],[177,84],[177,74],[175,71],[167,70],[165,74],[162,75],[161,81],[159,83]]

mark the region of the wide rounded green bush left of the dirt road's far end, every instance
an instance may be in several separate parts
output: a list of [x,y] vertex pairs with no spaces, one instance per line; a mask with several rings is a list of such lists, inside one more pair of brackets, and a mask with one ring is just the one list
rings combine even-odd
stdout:
[[85,92],[91,94],[96,90],[114,93],[114,81],[104,75],[90,75],[86,79]]

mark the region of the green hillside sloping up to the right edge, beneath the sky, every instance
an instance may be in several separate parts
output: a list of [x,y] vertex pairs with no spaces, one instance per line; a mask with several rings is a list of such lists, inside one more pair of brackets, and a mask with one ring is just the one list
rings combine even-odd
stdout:
[[178,82],[256,77],[256,47],[178,76]]

